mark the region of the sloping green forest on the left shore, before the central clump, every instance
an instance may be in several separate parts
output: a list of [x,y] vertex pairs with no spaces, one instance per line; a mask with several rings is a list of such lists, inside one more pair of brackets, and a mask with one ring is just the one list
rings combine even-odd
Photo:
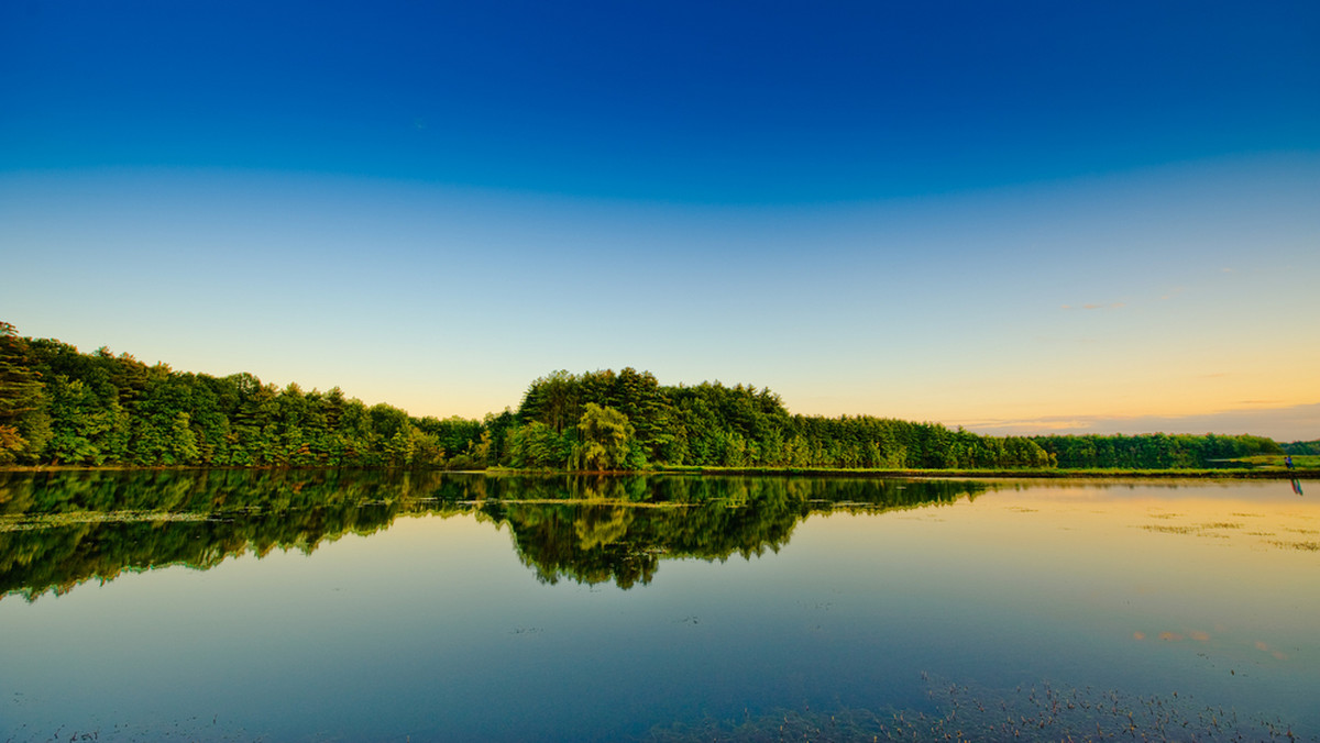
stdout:
[[176,372],[0,323],[0,465],[444,468],[473,465],[482,433],[480,421],[417,420],[339,388]]

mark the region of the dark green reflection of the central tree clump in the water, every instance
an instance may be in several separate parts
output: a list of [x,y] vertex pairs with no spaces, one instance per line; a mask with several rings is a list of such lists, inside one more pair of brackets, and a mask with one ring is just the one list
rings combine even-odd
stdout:
[[970,482],[628,476],[579,479],[562,504],[494,501],[482,513],[513,532],[540,581],[649,583],[661,557],[725,561],[779,552],[813,512],[879,512],[953,503]]

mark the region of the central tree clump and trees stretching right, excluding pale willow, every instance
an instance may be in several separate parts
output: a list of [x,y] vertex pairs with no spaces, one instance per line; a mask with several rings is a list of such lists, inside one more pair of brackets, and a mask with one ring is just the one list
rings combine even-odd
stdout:
[[[1254,454],[1282,454],[1258,436],[979,436],[940,424],[871,416],[791,414],[777,395],[754,385],[663,387],[624,368],[558,371],[528,387],[507,429],[494,430],[503,459],[517,467],[561,467],[586,432],[573,421],[601,406],[631,426],[626,451],[639,465],[705,467],[1020,470],[1210,467]],[[587,438],[590,438],[587,436]]]

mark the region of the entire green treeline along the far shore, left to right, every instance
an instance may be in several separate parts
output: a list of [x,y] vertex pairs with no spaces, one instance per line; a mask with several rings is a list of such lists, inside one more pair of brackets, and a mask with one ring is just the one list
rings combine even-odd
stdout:
[[660,385],[624,368],[535,380],[516,412],[417,418],[339,388],[148,366],[0,322],[0,465],[480,470],[1185,468],[1283,454],[1257,436],[993,437],[869,416],[795,416],[770,389]]

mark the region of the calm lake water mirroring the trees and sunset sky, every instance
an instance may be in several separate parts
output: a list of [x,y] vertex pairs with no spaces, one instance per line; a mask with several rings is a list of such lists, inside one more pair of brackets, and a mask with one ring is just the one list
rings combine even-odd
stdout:
[[0,740],[1320,739],[1317,498],[0,474]]

